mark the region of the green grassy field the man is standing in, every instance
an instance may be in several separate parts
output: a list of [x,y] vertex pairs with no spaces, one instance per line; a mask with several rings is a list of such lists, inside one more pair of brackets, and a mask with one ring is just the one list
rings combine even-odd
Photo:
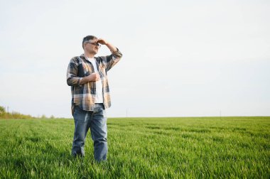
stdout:
[[270,178],[270,117],[108,119],[108,160],[72,119],[1,119],[0,178]]

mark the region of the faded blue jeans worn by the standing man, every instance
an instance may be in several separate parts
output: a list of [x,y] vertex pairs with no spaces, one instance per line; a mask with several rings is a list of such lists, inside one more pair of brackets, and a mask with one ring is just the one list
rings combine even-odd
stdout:
[[77,105],[74,109],[75,131],[72,156],[85,156],[85,137],[88,129],[94,141],[94,156],[97,161],[107,160],[107,116],[103,104],[95,104],[94,112],[87,112]]

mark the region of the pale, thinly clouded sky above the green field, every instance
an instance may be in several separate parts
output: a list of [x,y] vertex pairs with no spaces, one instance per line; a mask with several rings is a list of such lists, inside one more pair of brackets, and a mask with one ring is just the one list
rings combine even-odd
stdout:
[[68,63],[94,35],[123,53],[108,117],[270,116],[269,18],[263,0],[0,0],[0,106],[71,118]]

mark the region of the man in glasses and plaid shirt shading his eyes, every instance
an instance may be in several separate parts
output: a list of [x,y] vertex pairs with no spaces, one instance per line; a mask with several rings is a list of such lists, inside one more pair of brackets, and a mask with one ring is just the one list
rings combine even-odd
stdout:
[[[100,45],[106,45],[112,55],[95,57]],[[96,161],[107,160],[107,116],[111,106],[107,72],[121,59],[121,52],[111,43],[95,36],[82,40],[84,54],[70,60],[67,82],[71,86],[72,116],[75,121],[72,156],[85,156],[88,129],[94,141]]]

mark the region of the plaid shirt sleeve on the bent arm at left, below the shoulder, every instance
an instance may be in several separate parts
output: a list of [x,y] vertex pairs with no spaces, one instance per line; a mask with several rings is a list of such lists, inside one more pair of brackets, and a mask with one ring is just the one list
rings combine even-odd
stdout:
[[77,86],[80,84],[82,77],[77,77],[78,64],[74,58],[70,60],[67,71],[67,83],[69,86]]

